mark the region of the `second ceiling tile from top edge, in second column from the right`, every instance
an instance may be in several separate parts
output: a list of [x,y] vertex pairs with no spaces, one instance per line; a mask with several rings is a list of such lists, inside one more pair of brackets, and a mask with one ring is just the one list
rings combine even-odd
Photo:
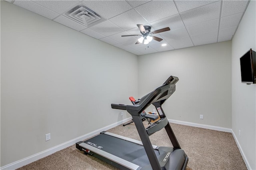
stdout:
[[212,4],[196,8],[194,10],[183,12],[180,15],[183,19],[185,26],[214,20],[220,17],[220,4],[220,1],[214,2]]

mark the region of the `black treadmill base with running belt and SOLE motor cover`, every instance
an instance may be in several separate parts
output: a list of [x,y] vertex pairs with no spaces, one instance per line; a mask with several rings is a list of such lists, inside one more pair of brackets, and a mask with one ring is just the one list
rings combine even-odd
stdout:
[[[82,143],[89,144],[89,146],[93,147],[91,149],[88,149],[87,145],[83,145]],[[95,156],[96,158],[99,158],[100,160],[103,160],[108,164],[111,164],[112,166],[120,169],[129,168],[125,167],[122,164],[119,164],[118,162],[115,162],[111,158],[104,157],[102,154],[98,154],[97,152],[103,150],[105,152],[108,152],[109,154],[122,158],[128,162],[131,162],[132,164],[137,165],[138,168],[136,169],[138,170],[152,170],[144,146],[129,142],[127,140],[116,138],[108,134],[104,134],[104,132],[84,142],[77,142],[76,148],[84,151],[85,154]],[[188,158],[184,150],[160,146],[157,147],[157,149],[155,149],[154,151],[162,169],[186,169]],[[166,157],[167,154],[168,156]],[[164,159],[166,160],[164,161]]]

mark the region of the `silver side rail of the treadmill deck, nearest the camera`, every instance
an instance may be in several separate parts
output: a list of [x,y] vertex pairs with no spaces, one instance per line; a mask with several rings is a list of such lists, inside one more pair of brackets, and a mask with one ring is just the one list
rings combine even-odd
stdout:
[[136,164],[133,164],[133,163],[127,161],[127,160],[119,158],[119,157],[117,157],[117,156],[115,156],[113,154],[110,154],[108,152],[105,152],[103,150],[97,149],[94,146],[91,146],[91,145],[86,144],[84,142],[80,143],[79,146],[81,146],[82,148],[90,150],[90,152],[94,152],[94,153],[96,153],[96,154],[98,154],[100,156],[108,158],[109,160],[111,160],[113,162],[116,162],[116,163],[118,163],[118,164],[120,164],[120,165],[122,165],[122,166],[124,166],[124,167],[126,167],[128,169],[132,169],[132,170],[140,170],[141,169],[141,167],[136,165]]

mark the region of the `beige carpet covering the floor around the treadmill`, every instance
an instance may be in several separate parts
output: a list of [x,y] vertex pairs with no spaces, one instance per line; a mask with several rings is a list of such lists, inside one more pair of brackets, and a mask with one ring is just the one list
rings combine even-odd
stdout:
[[[171,124],[181,148],[188,155],[187,170],[247,170],[231,133]],[[134,124],[108,132],[140,140]],[[172,146],[164,129],[150,136],[152,144]],[[32,162],[18,170],[115,170],[117,168],[84,155],[75,145]]]

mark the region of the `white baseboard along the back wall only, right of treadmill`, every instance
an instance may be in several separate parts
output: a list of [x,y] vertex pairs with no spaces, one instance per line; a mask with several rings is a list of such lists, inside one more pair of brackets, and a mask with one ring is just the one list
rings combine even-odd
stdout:
[[168,119],[169,123],[176,123],[180,125],[187,125],[190,127],[199,127],[199,128],[206,128],[206,129],[211,129],[211,130],[218,130],[222,132],[232,132],[231,128],[224,128],[224,127],[216,127],[216,126],[211,126],[211,125],[203,125],[203,124],[198,124],[198,123],[191,123],[191,122],[185,122],[185,121],[177,121],[173,119]]

